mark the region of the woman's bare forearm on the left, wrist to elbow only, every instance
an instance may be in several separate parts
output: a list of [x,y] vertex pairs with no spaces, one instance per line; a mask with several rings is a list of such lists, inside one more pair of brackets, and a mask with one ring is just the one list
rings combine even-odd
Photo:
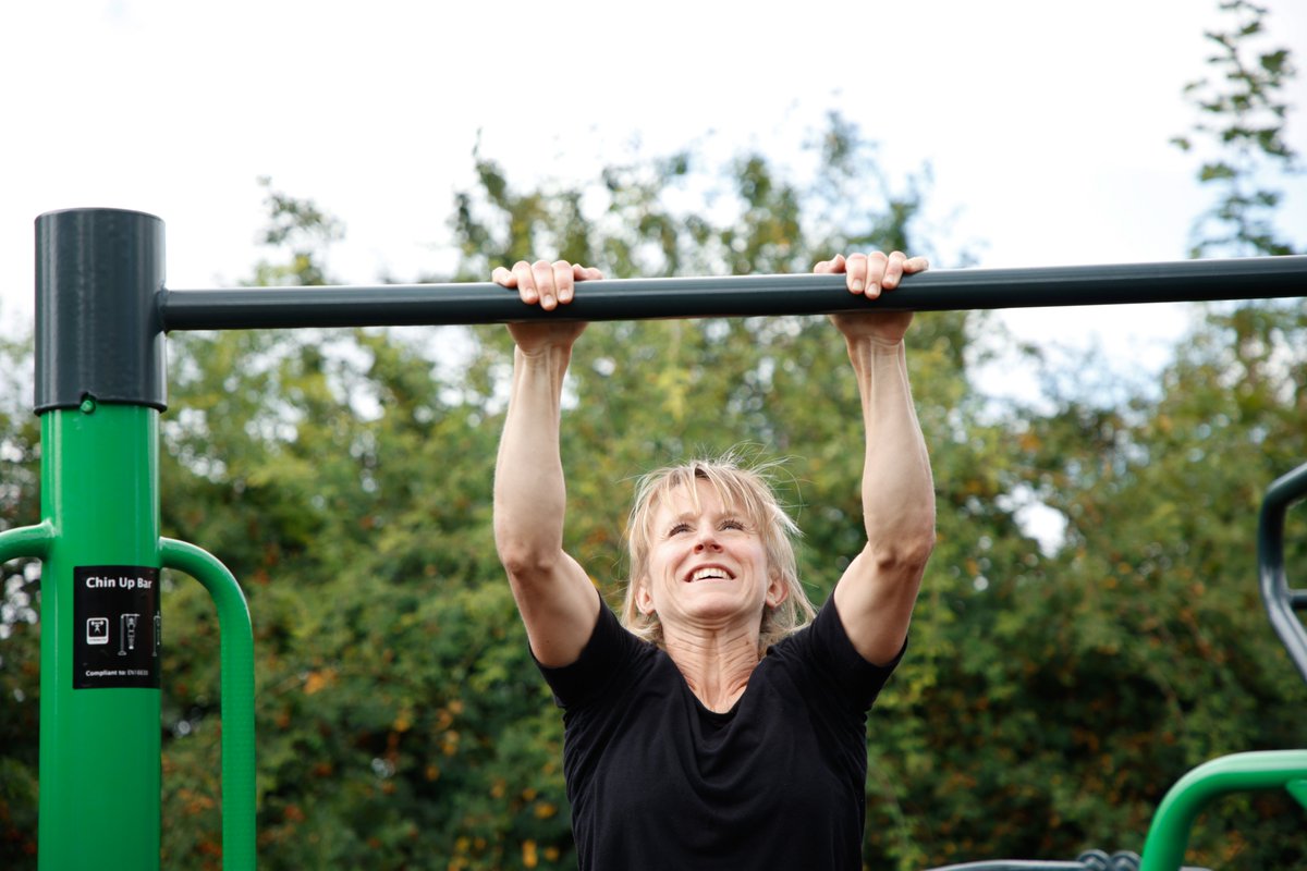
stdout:
[[541,565],[562,554],[567,496],[558,430],[570,358],[570,347],[531,356],[515,350],[494,478],[495,545],[506,564]]

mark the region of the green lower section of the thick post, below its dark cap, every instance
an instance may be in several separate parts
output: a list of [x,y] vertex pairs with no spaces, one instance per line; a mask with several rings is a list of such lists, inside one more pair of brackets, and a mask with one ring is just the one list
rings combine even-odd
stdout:
[[157,432],[142,406],[42,417],[43,870],[159,867]]

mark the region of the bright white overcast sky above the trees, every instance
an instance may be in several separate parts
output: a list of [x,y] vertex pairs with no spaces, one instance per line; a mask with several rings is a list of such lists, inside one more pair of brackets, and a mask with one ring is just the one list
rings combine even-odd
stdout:
[[[1266,5],[1273,42],[1307,67],[1307,4]],[[647,155],[708,131],[725,153],[788,145],[831,108],[889,168],[932,165],[945,252],[970,245],[982,266],[1179,260],[1210,195],[1168,140],[1189,129],[1180,89],[1222,22],[1217,0],[8,3],[0,321],[30,324],[42,212],[154,213],[169,285],[223,286],[259,256],[269,175],[344,219],[337,278],[405,279],[448,266],[451,192],[478,129],[514,178],[580,180],[637,136]],[[1290,131],[1307,153],[1300,112]],[[1285,218],[1302,242],[1307,184]],[[1176,337],[1184,311],[1009,323],[1138,355]]]

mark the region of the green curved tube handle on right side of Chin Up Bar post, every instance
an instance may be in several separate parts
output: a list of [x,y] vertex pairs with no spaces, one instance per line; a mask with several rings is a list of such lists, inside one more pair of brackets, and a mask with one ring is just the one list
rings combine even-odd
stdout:
[[254,629],[237,578],[213,554],[159,539],[165,568],[200,581],[218,607],[222,662],[222,867],[255,867]]

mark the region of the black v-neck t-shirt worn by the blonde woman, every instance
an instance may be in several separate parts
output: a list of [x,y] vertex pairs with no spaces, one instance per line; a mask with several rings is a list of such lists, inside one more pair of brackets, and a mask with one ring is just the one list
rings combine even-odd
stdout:
[[715,713],[601,606],[580,658],[541,666],[582,871],[861,868],[867,712],[902,656],[863,659],[831,598]]

